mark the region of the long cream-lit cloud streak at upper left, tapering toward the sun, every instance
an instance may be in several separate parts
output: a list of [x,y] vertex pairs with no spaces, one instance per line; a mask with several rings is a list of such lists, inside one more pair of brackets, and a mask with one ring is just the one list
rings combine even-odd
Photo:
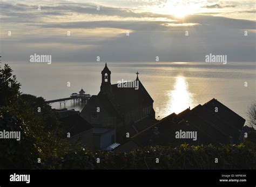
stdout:
[[[99,10],[97,10],[97,4],[91,3],[59,3],[56,5],[41,5],[41,11],[37,10],[38,5],[29,4],[11,4],[0,2],[1,15],[5,16],[2,21],[13,21],[19,22],[20,19],[39,19],[43,17],[56,16],[68,16],[70,14],[84,14],[84,15],[99,15],[99,16],[118,16],[118,17],[134,17],[134,18],[159,18],[170,16],[159,15],[152,12],[134,12],[134,9],[127,8],[113,8],[109,6],[99,5]],[[17,20],[18,18],[18,20]],[[35,22],[32,21],[31,22]]]

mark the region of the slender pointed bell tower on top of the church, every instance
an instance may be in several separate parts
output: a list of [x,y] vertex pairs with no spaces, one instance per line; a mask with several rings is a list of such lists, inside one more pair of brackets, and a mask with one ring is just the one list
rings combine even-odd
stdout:
[[111,71],[107,68],[107,64],[105,63],[105,67],[102,70],[102,85],[100,85],[100,92],[104,94],[112,93],[110,77]]

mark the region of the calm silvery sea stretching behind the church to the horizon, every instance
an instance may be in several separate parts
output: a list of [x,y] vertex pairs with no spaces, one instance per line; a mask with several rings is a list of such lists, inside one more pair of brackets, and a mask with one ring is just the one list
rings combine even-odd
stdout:
[[[22,92],[50,100],[69,97],[81,88],[97,95],[105,62],[9,64],[22,84]],[[160,118],[216,98],[247,119],[247,108],[256,99],[254,62],[114,62],[107,66],[112,84],[122,79],[134,80],[139,71],[139,79],[153,98],[156,117]],[[59,103],[52,107],[59,108]],[[83,106],[68,101],[66,107],[81,110]]]

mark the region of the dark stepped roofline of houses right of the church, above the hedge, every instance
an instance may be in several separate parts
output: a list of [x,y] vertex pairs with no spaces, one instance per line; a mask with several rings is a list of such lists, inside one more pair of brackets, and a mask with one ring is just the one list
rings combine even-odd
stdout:
[[[211,111],[213,109],[211,106],[212,103],[214,103],[214,107],[219,107],[217,114]],[[225,116],[226,112],[227,117]],[[233,119],[228,122],[228,118],[235,118],[238,122],[233,125],[235,123]],[[237,134],[241,130],[244,123],[245,120],[243,118],[216,99],[212,99],[206,105],[198,105],[192,110],[186,109],[179,114],[170,114],[158,123],[134,135],[130,140],[120,145],[117,150],[126,151],[131,150],[132,147],[144,147],[152,144],[162,146],[171,144],[175,146],[184,142],[190,144],[227,143],[230,141],[230,138],[234,138],[234,134]],[[179,130],[197,131],[199,141],[193,142],[187,139],[175,139],[174,133]]]

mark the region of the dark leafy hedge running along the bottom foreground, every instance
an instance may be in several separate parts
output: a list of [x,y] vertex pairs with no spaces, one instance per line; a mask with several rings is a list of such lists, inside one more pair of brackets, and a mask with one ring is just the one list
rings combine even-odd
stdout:
[[[97,163],[97,158],[100,163]],[[159,163],[156,163],[156,158]],[[218,158],[218,163],[215,163]],[[129,153],[86,149],[65,155],[58,169],[256,169],[255,150],[245,145],[146,147]]]

